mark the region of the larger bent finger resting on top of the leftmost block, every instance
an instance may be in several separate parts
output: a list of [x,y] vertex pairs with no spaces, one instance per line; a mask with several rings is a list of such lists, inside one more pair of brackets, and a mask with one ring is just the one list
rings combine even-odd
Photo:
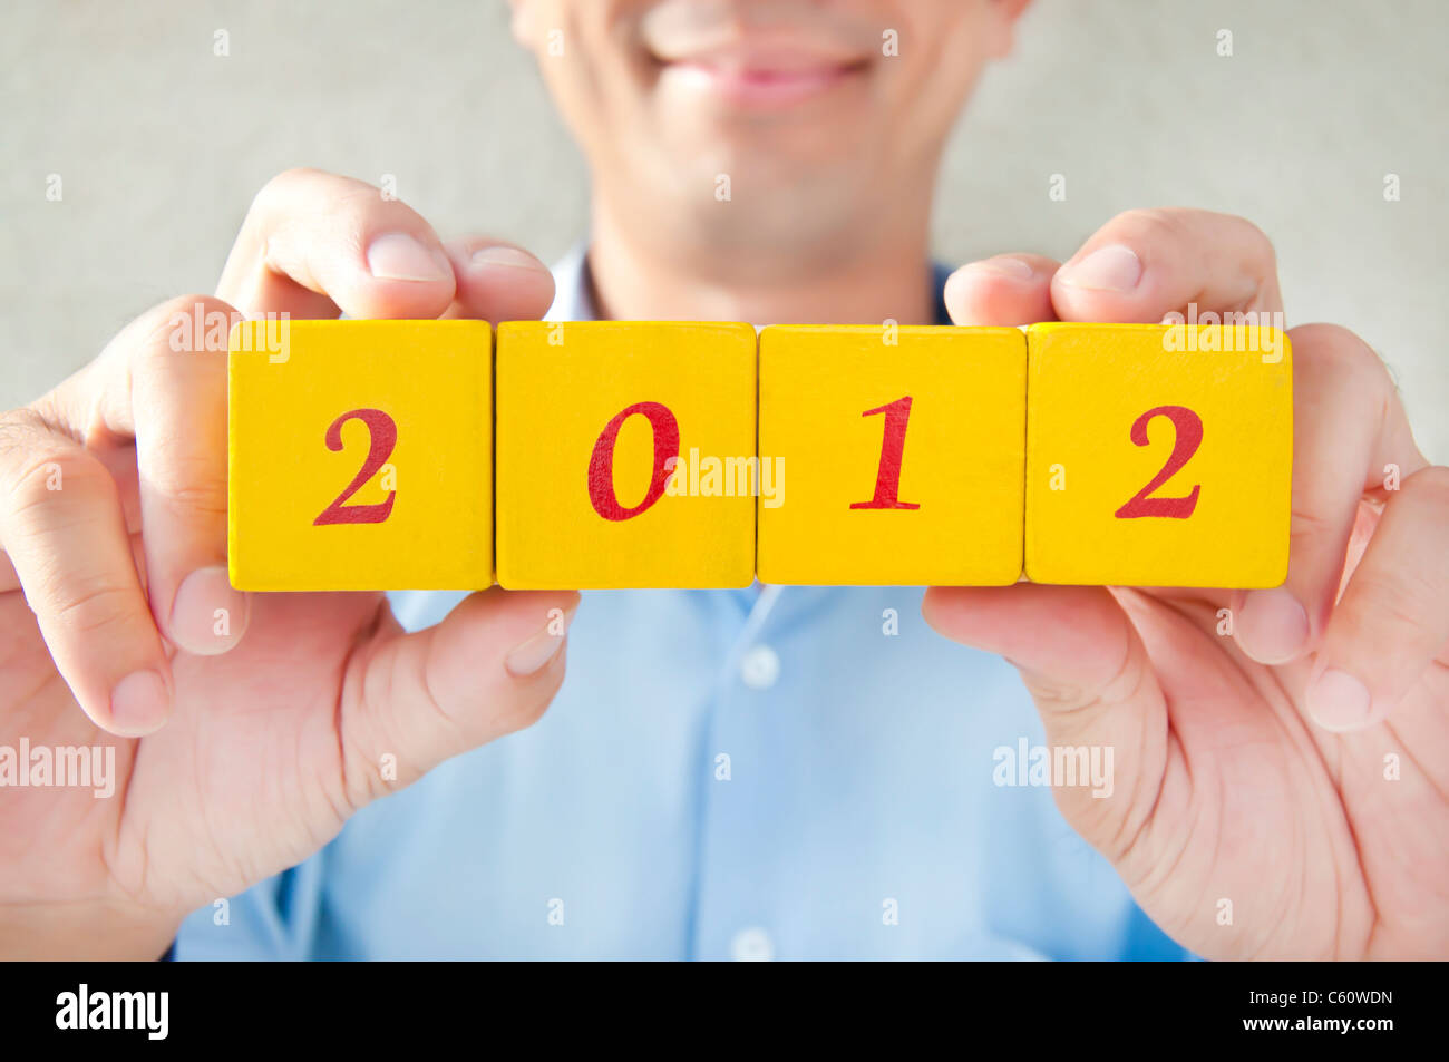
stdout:
[[351,177],[290,170],[256,194],[217,296],[243,313],[438,317],[452,264],[432,226]]

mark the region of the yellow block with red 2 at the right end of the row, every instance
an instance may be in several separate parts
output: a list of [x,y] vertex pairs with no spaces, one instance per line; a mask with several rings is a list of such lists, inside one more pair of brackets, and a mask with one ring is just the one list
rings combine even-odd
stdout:
[[1027,336],[1027,578],[1284,581],[1293,475],[1284,333],[1033,325]]

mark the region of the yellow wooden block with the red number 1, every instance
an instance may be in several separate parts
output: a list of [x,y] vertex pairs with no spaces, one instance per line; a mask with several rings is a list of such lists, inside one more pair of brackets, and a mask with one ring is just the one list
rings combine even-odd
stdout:
[[764,582],[1001,585],[1022,574],[1019,329],[772,326],[759,338]]

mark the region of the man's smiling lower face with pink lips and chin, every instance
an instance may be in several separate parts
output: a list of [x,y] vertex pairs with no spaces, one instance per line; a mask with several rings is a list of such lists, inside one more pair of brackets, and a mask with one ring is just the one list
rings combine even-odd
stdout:
[[929,197],[1023,4],[513,1],[514,32],[622,223],[794,264],[868,246],[903,197]]

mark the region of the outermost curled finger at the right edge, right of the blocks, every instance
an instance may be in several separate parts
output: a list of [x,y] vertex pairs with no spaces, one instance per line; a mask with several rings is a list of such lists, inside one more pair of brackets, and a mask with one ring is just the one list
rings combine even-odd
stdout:
[[1339,732],[1378,723],[1449,643],[1449,468],[1414,472],[1390,496],[1333,610],[1308,682],[1313,720]]

